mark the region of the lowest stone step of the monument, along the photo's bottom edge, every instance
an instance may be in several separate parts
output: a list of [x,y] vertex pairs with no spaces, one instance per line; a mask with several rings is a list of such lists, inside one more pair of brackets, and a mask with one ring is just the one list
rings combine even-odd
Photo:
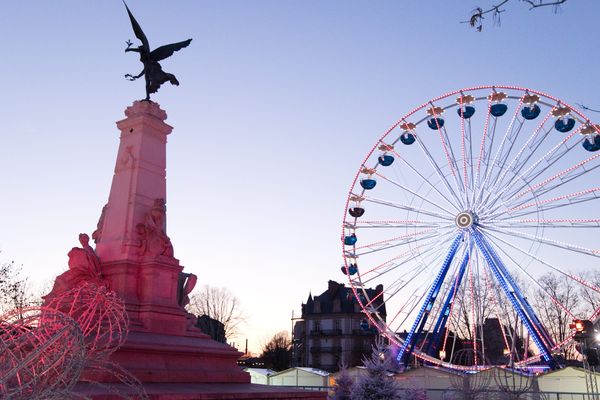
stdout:
[[[125,385],[111,384],[99,387],[88,383],[78,383],[75,392],[94,400],[116,400],[116,390],[122,394],[135,395]],[[190,384],[190,383],[149,383],[144,389],[150,400],[325,400],[327,392],[306,391],[285,386],[267,386],[256,384]]]

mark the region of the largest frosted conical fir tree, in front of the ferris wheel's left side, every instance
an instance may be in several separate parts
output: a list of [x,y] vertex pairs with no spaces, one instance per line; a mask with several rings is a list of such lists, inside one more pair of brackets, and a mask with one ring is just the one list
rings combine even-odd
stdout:
[[386,356],[382,339],[373,345],[369,357],[363,359],[367,373],[354,384],[352,400],[401,400],[404,390],[388,372],[393,369],[392,359]]

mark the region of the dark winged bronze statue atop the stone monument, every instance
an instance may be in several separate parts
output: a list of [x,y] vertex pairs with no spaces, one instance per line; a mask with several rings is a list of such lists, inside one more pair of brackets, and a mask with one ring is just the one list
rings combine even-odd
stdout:
[[131,27],[133,28],[133,32],[135,36],[142,42],[141,46],[131,47],[133,43],[131,40],[128,40],[127,48],[125,51],[134,51],[136,53],[140,53],[140,61],[144,64],[144,69],[138,75],[126,74],[125,78],[130,81],[134,81],[138,78],[141,78],[142,75],[146,78],[146,99],[150,101],[150,93],[156,93],[160,85],[169,81],[172,85],[179,86],[179,81],[175,77],[175,75],[170,74],[162,70],[162,67],[158,63],[165,58],[171,57],[173,53],[187,47],[192,39],[184,40],[183,42],[167,44],[165,46],[160,46],[157,49],[150,51],[150,44],[148,43],[148,38],[142,31],[140,24],[135,20],[133,14],[125,4],[125,8],[127,9],[127,13],[129,14],[129,19],[131,20]]

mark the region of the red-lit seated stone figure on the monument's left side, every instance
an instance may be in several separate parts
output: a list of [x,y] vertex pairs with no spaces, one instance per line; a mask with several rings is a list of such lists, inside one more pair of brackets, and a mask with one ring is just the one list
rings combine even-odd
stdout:
[[89,242],[90,237],[87,234],[79,234],[79,243],[82,247],[73,247],[69,251],[69,269],[56,277],[52,290],[44,298],[77,287],[82,282],[104,284],[102,282],[100,259]]

